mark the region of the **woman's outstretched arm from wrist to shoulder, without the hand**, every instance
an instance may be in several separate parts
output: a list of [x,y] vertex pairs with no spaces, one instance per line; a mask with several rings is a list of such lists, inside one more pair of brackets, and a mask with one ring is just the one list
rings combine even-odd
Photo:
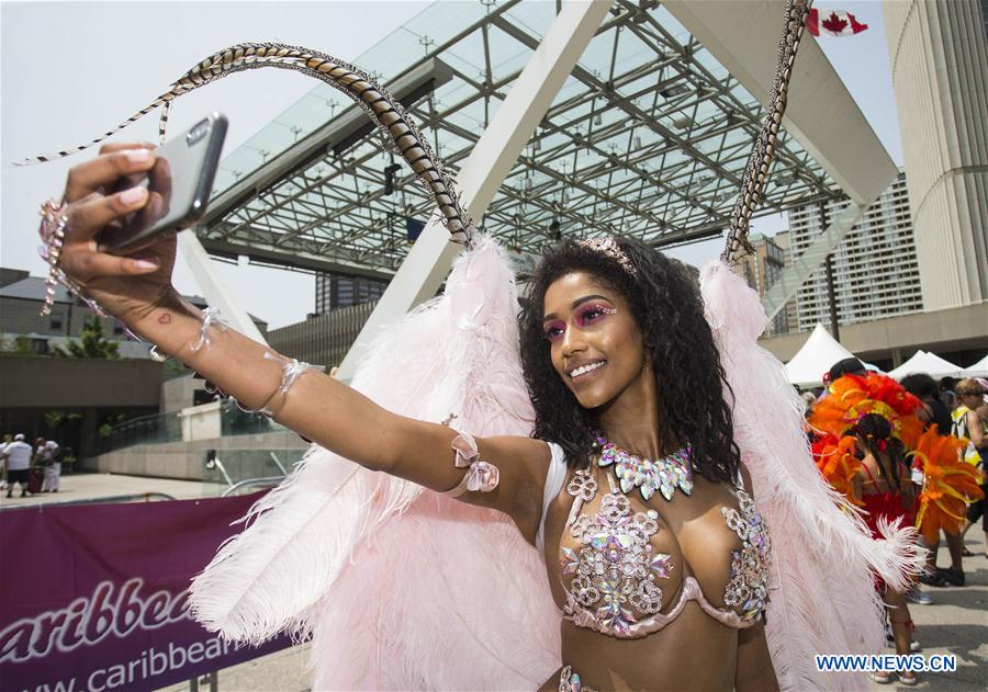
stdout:
[[[281,424],[372,470],[406,478],[437,491],[456,488],[467,473],[454,465],[452,447],[458,433],[439,423],[398,416],[359,392],[312,372],[282,396],[282,367],[266,359],[272,353],[226,328],[210,328],[207,347],[193,350],[202,339],[197,308],[171,292],[132,327],[235,397],[245,408],[269,407]],[[531,515],[541,510],[549,447],[528,438],[476,439],[480,460],[497,469],[496,487],[465,492],[461,499],[510,514],[523,533]],[[536,520],[538,517],[536,517]]]

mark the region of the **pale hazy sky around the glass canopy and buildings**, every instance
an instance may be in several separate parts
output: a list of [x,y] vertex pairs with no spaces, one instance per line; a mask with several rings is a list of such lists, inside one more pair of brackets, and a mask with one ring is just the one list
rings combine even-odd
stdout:
[[[744,1],[744,0],[737,0]],[[2,223],[0,265],[43,275],[37,258],[37,205],[60,194],[65,173],[82,156],[64,162],[11,168],[9,162],[92,138],[164,91],[178,75],[214,50],[242,41],[278,41],[356,59],[427,2],[30,2],[0,5],[2,82],[0,159]],[[820,45],[897,165],[902,162],[882,8],[873,2],[818,2],[821,12],[847,10],[868,31],[821,37]],[[352,18],[360,16],[353,31]],[[774,47],[773,47],[774,49]],[[203,113],[222,110],[231,120],[232,151],[273,120],[313,82],[282,70],[259,70],[222,80],[183,98],[172,110],[171,132]],[[125,131],[123,140],[154,140],[157,117]],[[774,235],[785,219],[759,219],[755,230]],[[694,263],[716,257],[720,242],[671,253]],[[221,276],[252,314],[280,327],[304,319],[314,304],[312,276],[248,265],[220,264]],[[176,285],[197,293],[179,263]]]

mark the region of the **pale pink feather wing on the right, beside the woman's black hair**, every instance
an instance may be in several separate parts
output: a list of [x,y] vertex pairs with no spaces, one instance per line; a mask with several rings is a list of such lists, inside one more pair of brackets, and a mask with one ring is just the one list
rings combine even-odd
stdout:
[[[885,524],[872,540],[857,510],[830,488],[810,456],[804,404],[778,360],[757,345],[767,317],[755,294],[722,262],[700,273],[707,319],[730,390],[734,433],[753,497],[768,522],[773,579],[766,614],[783,690],[862,689],[861,674],[820,673],[813,655],[871,654],[884,644],[872,570],[895,588],[923,568],[909,527]],[[840,588],[835,576],[840,576]]]

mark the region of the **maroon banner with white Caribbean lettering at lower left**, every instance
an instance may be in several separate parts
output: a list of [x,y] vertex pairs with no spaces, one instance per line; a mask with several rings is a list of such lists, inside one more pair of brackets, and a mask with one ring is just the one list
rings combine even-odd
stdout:
[[0,690],[154,690],[288,646],[236,648],[189,613],[259,495],[0,512]]

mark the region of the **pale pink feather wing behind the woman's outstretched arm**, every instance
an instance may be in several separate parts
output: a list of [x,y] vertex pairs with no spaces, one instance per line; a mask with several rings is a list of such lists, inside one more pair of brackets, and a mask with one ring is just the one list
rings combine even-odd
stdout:
[[[375,338],[352,386],[478,435],[530,434],[516,299],[480,239],[441,297]],[[531,688],[559,666],[544,565],[503,514],[314,445],[247,519],[193,580],[193,613],[239,642],[311,635],[316,689]]]

